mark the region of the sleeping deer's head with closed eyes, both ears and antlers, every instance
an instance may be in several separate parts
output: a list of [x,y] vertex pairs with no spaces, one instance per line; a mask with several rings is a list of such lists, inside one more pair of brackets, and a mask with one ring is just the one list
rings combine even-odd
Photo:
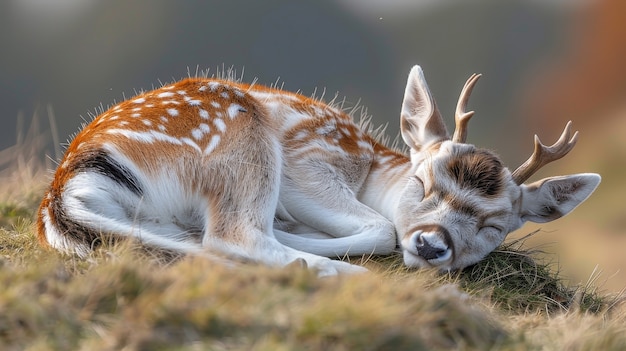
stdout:
[[480,75],[472,75],[458,100],[450,138],[419,66],[409,74],[401,134],[411,149],[411,178],[396,211],[406,265],[459,269],[474,264],[526,221],[544,223],[570,213],[600,183],[598,174],[548,177],[525,184],[539,168],[565,156],[576,143],[571,123],[512,173],[493,152],[466,143],[474,112],[467,102]]

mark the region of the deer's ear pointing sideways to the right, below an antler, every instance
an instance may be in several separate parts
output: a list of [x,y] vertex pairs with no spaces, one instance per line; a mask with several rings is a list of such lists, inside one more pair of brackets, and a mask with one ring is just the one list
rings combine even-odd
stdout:
[[598,174],[583,173],[522,184],[522,220],[545,223],[565,216],[596,190],[600,180]]

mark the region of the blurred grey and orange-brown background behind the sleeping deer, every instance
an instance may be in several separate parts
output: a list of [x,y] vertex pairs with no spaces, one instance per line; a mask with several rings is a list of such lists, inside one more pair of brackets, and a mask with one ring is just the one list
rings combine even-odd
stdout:
[[33,157],[55,159],[52,136],[66,141],[98,106],[197,70],[232,66],[244,81],[337,92],[392,136],[412,65],[424,69],[451,130],[463,83],[483,73],[470,142],[515,168],[533,134],[552,143],[573,120],[577,147],[535,178],[603,176],[572,215],[511,237],[540,229],[529,245],[558,253],[572,283],[626,287],[622,0],[7,0],[0,50],[2,168],[29,141]]

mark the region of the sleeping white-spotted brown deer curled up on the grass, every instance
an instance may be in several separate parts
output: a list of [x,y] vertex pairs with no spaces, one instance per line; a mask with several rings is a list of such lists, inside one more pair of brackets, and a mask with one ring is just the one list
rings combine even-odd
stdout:
[[[594,173],[526,181],[569,153],[567,123],[513,172],[466,143],[463,87],[452,136],[420,66],[400,111],[408,152],[341,106],[224,77],[189,77],[101,113],[68,145],[38,210],[42,245],[85,257],[105,236],[183,255],[321,276],[367,271],[347,256],[401,252],[411,268],[460,270],[525,222],[570,213]],[[339,259],[338,259],[339,258]]]

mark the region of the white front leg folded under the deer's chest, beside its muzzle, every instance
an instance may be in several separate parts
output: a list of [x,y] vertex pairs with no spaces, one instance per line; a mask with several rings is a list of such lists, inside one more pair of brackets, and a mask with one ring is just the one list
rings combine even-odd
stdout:
[[326,257],[393,252],[396,234],[391,221],[359,202],[344,184],[307,178],[283,183],[277,217],[296,223],[298,230],[275,228],[281,243]]

